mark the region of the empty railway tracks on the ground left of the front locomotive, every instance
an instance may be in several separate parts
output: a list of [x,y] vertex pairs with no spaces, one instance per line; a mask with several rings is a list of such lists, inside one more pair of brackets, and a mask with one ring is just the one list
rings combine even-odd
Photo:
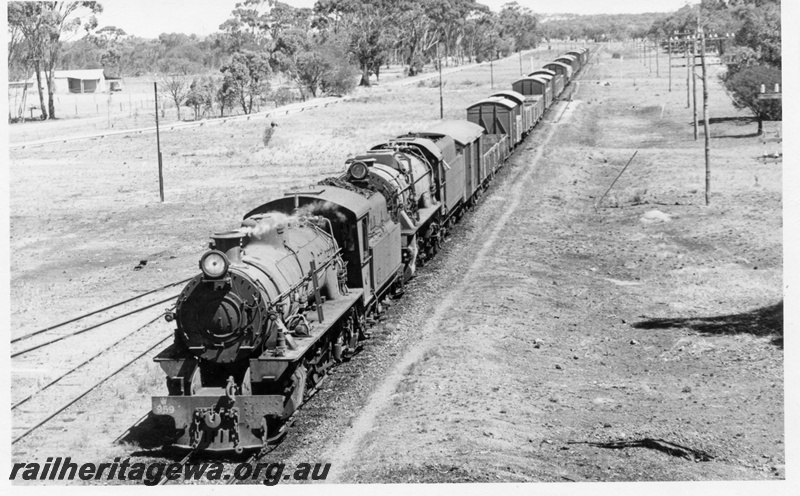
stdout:
[[12,444],[75,420],[64,412],[166,343],[171,326],[159,320],[187,280],[12,339]]

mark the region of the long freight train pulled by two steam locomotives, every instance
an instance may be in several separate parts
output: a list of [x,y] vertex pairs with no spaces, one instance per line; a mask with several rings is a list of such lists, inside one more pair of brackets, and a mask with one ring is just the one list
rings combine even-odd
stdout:
[[260,205],[212,236],[155,361],[152,413],[174,446],[259,449],[336,363],[356,353],[512,150],[589,57],[569,52],[467,109],[347,160],[339,177]]

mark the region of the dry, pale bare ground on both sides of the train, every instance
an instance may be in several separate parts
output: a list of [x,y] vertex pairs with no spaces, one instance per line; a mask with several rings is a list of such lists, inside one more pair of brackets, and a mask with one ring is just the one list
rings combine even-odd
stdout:
[[[766,142],[753,136],[714,80],[705,206],[685,79],[668,92],[663,66],[656,78],[612,51],[600,50],[573,101],[520,146],[270,461],[329,461],[335,482],[785,477],[782,164],[761,158],[780,151],[780,123],[767,123]],[[450,118],[489,94],[487,72],[448,79]],[[496,87],[518,72],[513,58],[496,64]],[[178,169],[166,204],[153,198],[151,145],[13,151],[11,248],[23,256],[12,259],[12,336],[191,275],[208,233],[338,172],[348,153],[434,122],[437,103],[427,84],[376,88],[287,118],[269,148],[260,124],[176,131],[164,138]],[[150,262],[132,271],[140,259]],[[141,445],[111,441],[163,389],[157,367],[137,362],[69,422],[14,445],[14,461],[148,460]],[[592,444],[644,439],[710,460]]]

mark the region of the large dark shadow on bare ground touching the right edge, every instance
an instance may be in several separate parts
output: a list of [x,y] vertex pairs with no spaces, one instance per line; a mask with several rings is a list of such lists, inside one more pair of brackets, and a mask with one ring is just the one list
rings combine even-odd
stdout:
[[636,329],[688,327],[705,334],[752,334],[774,336],[772,344],[783,348],[783,300],[750,312],[715,317],[650,319],[633,324]]

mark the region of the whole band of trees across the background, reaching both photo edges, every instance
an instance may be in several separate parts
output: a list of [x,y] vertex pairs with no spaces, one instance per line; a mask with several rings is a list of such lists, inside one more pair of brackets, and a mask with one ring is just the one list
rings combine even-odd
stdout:
[[[665,40],[675,31],[696,30],[698,14],[707,32],[736,33],[725,76],[733,94],[744,95],[741,88],[752,86],[756,75],[765,83],[776,74],[780,80],[779,0],[703,0],[671,14],[546,17],[516,2],[492,12],[476,0],[317,0],[310,9],[243,0],[218,32],[162,33],[157,39],[129,35],[122,26],[99,27],[102,11],[99,2],[8,2],[9,78],[33,73],[37,88],[47,88],[47,101],[39,90],[42,119],[55,118],[57,68],[153,76],[178,112],[188,106],[198,118],[234,107],[251,113],[268,101],[344,94],[357,84],[369,86],[387,65],[413,76],[437,60],[482,62],[552,39]],[[275,76],[291,88],[273,89]],[[736,98],[751,108],[746,102],[754,98]],[[754,113],[773,117],[775,104],[762,101]]]

